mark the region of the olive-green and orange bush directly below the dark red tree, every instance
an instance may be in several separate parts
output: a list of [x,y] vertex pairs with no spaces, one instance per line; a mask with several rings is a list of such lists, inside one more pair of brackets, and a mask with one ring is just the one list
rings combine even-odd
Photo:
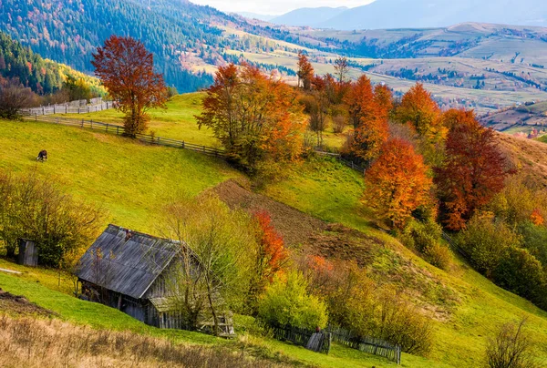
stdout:
[[520,237],[502,221],[489,215],[476,214],[459,233],[459,247],[470,256],[471,264],[487,277],[498,267],[505,252],[519,248]]

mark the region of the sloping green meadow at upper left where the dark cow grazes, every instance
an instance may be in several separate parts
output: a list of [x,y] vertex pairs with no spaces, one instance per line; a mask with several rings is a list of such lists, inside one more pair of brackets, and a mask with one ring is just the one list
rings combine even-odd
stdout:
[[[149,232],[157,231],[154,219],[178,192],[195,195],[240,175],[199,153],[46,123],[0,120],[0,147],[0,169],[36,170],[107,209],[109,222]],[[48,152],[45,163],[36,162],[41,149]]]

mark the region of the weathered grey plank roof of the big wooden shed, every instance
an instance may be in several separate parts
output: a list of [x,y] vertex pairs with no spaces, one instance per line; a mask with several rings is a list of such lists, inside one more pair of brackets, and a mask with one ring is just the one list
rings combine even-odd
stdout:
[[131,231],[131,237],[126,240],[126,231],[108,225],[78,262],[76,275],[81,280],[139,299],[173,260],[178,242],[136,231]]

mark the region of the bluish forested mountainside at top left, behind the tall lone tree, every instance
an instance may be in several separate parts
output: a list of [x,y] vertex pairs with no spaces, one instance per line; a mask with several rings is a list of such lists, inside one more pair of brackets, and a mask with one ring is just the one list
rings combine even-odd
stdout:
[[208,85],[212,79],[181,68],[188,52],[222,46],[222,31],[204,23],[222,13],[188,2],[124,0],[7,0],[0,7],[3,28],[42,56],[91,71],[91,53],[110,35],[142,39],[156,56],[166,80],[180,91]]

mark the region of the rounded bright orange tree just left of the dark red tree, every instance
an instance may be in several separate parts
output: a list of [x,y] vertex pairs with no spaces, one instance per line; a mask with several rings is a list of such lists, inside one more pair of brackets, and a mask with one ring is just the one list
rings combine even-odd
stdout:
[[421,155],[407,141],[387,141],[377,161],[366,170],[367,205],[397,228],[405,226],[413,210],[428,205],[432,180]]

